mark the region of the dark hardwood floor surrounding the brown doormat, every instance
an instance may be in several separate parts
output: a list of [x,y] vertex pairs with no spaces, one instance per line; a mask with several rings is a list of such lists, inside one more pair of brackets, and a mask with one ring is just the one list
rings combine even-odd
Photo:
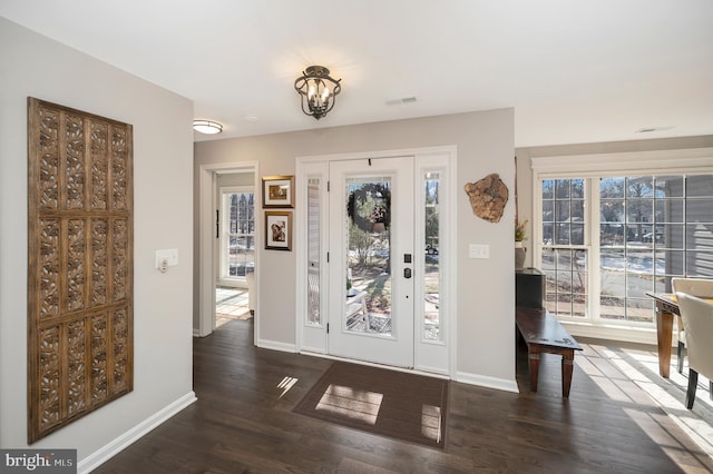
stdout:
[[330,361],[256,348],[252,330],[252,320],[234,320],[195,339],[198,402],[95,472],[713,472],[713,460],[604,358],[599,381],[575,367],[569,399],[556,356],[544,356],[539,392],[527,392],[521,349],[521,394],[451,383],[447,447],[437,450],[292,413]]

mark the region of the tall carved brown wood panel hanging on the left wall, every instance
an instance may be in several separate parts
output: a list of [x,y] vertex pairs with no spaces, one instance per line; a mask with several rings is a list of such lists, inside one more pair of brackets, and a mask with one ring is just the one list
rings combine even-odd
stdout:
[[134,385],[130,125],[28,99],[28,442]]

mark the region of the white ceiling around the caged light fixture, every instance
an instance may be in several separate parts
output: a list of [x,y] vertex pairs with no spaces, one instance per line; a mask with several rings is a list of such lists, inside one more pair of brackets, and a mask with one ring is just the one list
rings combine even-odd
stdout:
[[[192,99],[217,139],[507,107],[518,147],[713,135],[712,0],[0,0],[0,16]],[[310,65],[342,79],[320,121],[293,89]]]

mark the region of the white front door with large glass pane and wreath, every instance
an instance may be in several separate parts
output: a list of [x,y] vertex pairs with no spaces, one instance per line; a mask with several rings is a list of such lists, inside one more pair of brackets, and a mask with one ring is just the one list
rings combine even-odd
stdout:
[[332,161],[329,196],[329,353],[413,367],[413,158]]

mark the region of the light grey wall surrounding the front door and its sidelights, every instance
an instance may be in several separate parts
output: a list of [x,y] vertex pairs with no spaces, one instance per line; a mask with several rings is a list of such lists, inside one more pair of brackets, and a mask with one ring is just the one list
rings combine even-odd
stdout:
[[[304,120],[312,120],[306,117]],[[326,118],[329,120],[329,117]],[[261,176],[294,175],[295,157],[391,149],[458,147],[458,355],[461,379],[484,385],[515,384],[514,276],[514,112],[485,112],[267,135],[195,144],[195,169],[202,165],[260,161]],[[500,223],[472,214],[462,189],[498,172],[510,189]],[[197,195],[197,179],[195,181]],[[261,209],[262,211],[262,209]],[[197,224],[197,216],[196,216]],[[489,244],[490,259],[468,258],[468,245]],[[197,244],[197,243],[196,243]],[[260,251],[258,342],[295,344],[294,251]],[[198,263],[198,255],[195,255]],[[197,299],[197,285],[194,298]],[[194,315],[198,327],[198,315]]]

